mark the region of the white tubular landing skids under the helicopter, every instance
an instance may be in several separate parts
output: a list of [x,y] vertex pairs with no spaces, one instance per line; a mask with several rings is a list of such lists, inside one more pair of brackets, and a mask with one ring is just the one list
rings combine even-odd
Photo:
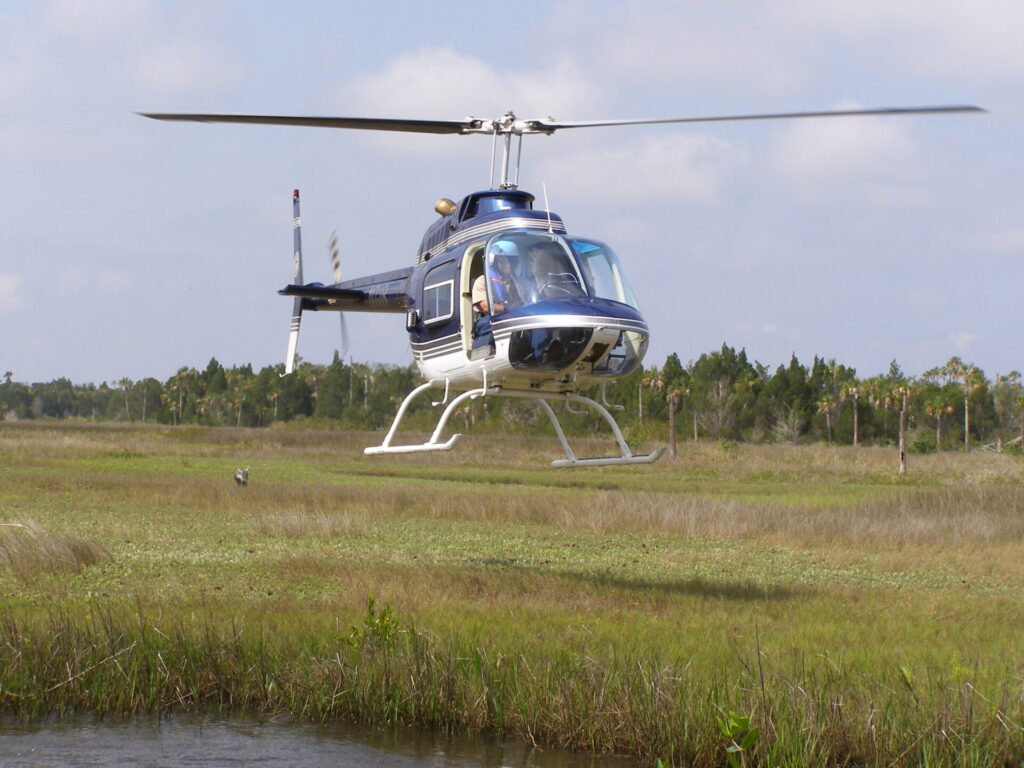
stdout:
[[[368,456],[376,456],[378,454],[416,454],[427,451],[449,451],[462,436],[461,434],[455,434],[447,440],[443,442],[441,441],[441,434],[444,432],[444,427],[447,424],[449,418],[451,418],[455,410],[465,400],[476,399],[477,397],[516,397],[522,400],[537,400],[540,402],[541,408],[551,420],[551,425],[555,428],[555,434],[558,435],[558,440],[561,442],[562,450],[565,452],[564,459],[556,459],[551,462],[552,467],[593,467],[614,464],[651,464],[656,462],[665,452],[664,447],[659,447],[649,454],[646,454],[645,456],[634,456],[633,452],[630,451],[630,446],[626,444],[626,439],[623,437],[622,430],[618,429],[618,424],[615,423],[614,418],[608,413],[608,410],[596,400],[592,400],[590,397],[584,397],[583,395],[572,394],[569,392],[555,393],[535,392],[522,389],[503,389],[498,386],[487,386],[486,383],[484,383],[484,386],[477,389],[471,389],[468,392],[463,392],[449,402],[444,412],[441,414],[440,419],[437,420],[437,428],[434,429],[433,434],[430,435],[430,439],[426,442],[414,445],[392,445],[391,441],[394,439],[394,435],[398,431],[398,425],[406,416],[406,411],[409,409],[410,403],[417,397],[417,395],[427,389],[441,386],[444,387],[444,399],[433,403],[434,406],[441,406],[447,400],[447,382],[434,379],[426,384],[421,384],[410,392],[406,396],[406,399],[402,400],[401,406],[398,408],[398,413],[395,414],[394,422],[392,422],[391,429],[389,429],[387,435],[385,435],[384,441],[380,445],[364,449],[362,453]],[[580,402],[597,411],[604,421],[607,422],[608,426],[611,427],[611,432],[615,437],[615,442],[618,443],[620,455],[593,459],[578,459],[577,455],[572,453],[572,447],[569,445],[569,441],[565,437],[565,432],[562,430],[562,425],[559,423],[558,417],[555,415],[551,406],[548,404],[549,399],[561,400],[563,402]]]

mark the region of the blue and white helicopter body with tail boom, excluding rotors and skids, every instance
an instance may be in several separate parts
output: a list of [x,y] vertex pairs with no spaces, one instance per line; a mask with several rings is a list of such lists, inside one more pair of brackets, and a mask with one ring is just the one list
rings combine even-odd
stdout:
[[420,373],[455,389],[574,392],[625,376],[649,332],[617,257],[532,201],[469,195],[427,229],[415,266],[282,293],[304,310],[403,312]]

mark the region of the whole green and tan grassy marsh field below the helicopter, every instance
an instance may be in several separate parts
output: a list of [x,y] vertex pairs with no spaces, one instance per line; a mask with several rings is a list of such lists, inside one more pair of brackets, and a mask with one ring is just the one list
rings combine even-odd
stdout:
[[0,424],[0,703],[673,765],[1024,761],[1020,457],[900,479],[882,449],[552,470],[554,438],[361,455],[379,440]]

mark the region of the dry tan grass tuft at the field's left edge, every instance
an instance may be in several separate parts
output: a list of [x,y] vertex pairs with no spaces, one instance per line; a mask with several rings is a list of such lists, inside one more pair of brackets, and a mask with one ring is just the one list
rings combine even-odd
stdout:
[[106,550],[95,542],[46,534],[34,522],[0,524],[0,566],[23,581],[40,573],[80,573],[109,559]]

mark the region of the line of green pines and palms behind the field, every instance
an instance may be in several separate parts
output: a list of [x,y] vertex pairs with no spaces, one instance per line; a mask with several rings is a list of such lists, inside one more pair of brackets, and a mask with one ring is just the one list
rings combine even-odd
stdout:
[[[346,426],[386,426],[421,380],[415,368],[301,362],[290,376],[283,366],[254,372],[185,367],[167,381],[122,378],[74,384],[67,378],[22,383],[12,372],[0,383],[0,419],[84,419],[103,422],[264,427],[306,419]],[[794,355],[774,370],[751,361],[728,345],[683,365],[671,354],[660,367],[640,369],[592,396],[616,408],[628,436],[716,438],[752,442],[895,444],[915,452],[1020,446],[1024,435],[1021,374],[988,378],[952,357],[918,376],[894,360],[883,375],[858,378],[854,369],[815,356]],[[417,416],[419,415],[419,417]],[[429,424],[434,412],[422,398],[411,409],[411,426]],[[502,398],[474,401],[460,418],[522,430],[545,429],[532,403]],[[600,430],[593,414],[567,413],[571,431]]]

